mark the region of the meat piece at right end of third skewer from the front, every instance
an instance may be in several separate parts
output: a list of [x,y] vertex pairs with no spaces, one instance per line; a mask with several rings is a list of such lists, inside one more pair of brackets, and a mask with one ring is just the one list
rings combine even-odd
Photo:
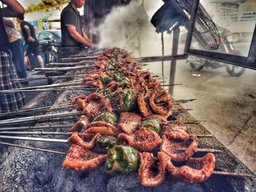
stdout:
[[187,127],[178,120],[170,120],[162,126],[162,134],[167,137],[167,139],[176,139],[179,141],[187,141],[189,139],[189,131]]

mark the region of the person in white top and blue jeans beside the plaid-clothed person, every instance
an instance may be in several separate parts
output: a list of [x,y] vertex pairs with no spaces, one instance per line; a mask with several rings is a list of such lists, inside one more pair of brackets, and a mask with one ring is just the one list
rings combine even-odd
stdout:
[[4,18],[4,26],[9,38],[12,61],[15,64],[18,77],[21,79],[26,78],[23,40],[12,18]]

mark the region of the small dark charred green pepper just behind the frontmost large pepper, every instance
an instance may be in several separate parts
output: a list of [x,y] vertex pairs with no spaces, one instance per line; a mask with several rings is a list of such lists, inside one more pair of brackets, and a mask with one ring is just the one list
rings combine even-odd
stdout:
[[119,142],[116,137],[104,135],[97,139],[95,150],[102,152],[110,149],[115,145],[121,145],[121,142]]

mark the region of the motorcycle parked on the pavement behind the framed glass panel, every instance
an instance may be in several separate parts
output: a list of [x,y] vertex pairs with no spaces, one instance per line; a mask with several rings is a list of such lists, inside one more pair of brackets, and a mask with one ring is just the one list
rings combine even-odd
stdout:
[[[220,37],[222,43],[219,45],[219,50],[222,53],[228,53],[230,55],[241,55],[241,50],[233,47],[233,34],[231,34],[230,31],[222,31]],[[225,67],[227,73],[234,77],[239,77],[245,72],[244,67],[223,64],[218,61],[213,61],[205,58],[197,58],[195,56],[187,58],[187,63],[189,63],[192,69],[194,69],[195,71],[200,71],[201,69],[203,69],[203,67],[211,69]]]

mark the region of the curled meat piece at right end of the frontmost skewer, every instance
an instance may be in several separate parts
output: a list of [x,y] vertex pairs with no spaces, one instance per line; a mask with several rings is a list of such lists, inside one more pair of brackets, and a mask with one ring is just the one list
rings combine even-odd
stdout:
[[215,168],[215,156],[207,153],[203,158],[189,158],[185,166],[173,166],[171,161],[167,164],[167,170],[176,180],[188,183],[202,183],[211,177]]

